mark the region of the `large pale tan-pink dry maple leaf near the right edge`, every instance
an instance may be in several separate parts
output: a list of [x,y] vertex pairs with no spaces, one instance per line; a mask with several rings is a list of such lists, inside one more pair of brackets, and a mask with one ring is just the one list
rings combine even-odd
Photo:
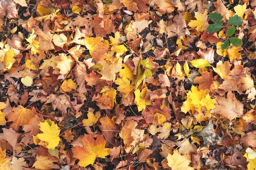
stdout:
[[235,94],[231,91],[227,93],[227,98],[216,96],[216,108],[213,110],[223,118],[229,120],[243,116],[244,105],[237,100]]

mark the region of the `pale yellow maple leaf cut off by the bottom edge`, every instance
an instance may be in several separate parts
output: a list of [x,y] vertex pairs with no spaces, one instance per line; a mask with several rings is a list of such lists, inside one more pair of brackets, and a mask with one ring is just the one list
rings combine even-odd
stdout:
[[194,170],[189,163],[191,163],[190,155],[181,155],[178,150],[173,150],[173,155],[168,153],[166,157],[167,165],[172,170]]

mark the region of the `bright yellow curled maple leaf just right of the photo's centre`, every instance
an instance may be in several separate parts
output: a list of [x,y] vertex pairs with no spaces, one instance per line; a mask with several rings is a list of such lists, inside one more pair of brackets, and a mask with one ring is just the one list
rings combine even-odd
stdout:
[[153,100],[145,100],[144,97],[146,95],[148,91],[148,88],[147,87],[144,87],[141,92],[139,89],[136,89],[134,94],[135,94],[135,104],[137,105],[138,107],[138,111],[142,111],[143,109],[146,108],[146,105],[151,105],[151,102]]

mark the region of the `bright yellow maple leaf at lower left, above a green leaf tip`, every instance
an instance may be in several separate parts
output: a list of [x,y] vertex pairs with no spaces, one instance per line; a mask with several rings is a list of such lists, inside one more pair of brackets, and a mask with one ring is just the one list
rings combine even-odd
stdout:
[[36,136],[45,142],[45,146],[48,149],[54,149],[58,146],[61,138],[59,137],[60,129],[57,124],[52,122],[51,120],[45,120],[45,122],[40,122],[40,131],[43,133],[38,133]]

